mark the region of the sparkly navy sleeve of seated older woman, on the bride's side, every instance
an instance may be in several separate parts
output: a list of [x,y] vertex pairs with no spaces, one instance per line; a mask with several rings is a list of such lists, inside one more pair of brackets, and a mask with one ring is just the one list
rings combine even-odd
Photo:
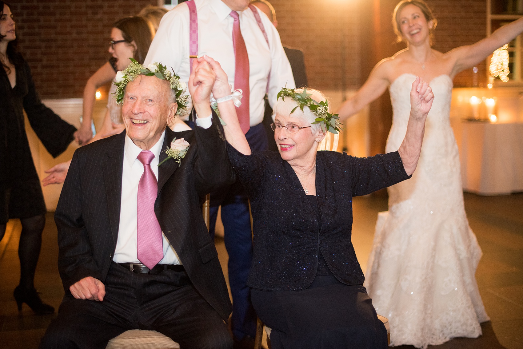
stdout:
[[412,177],[407,176],[398,152],[346,158],[351,169],[353,196],[367,195]]

